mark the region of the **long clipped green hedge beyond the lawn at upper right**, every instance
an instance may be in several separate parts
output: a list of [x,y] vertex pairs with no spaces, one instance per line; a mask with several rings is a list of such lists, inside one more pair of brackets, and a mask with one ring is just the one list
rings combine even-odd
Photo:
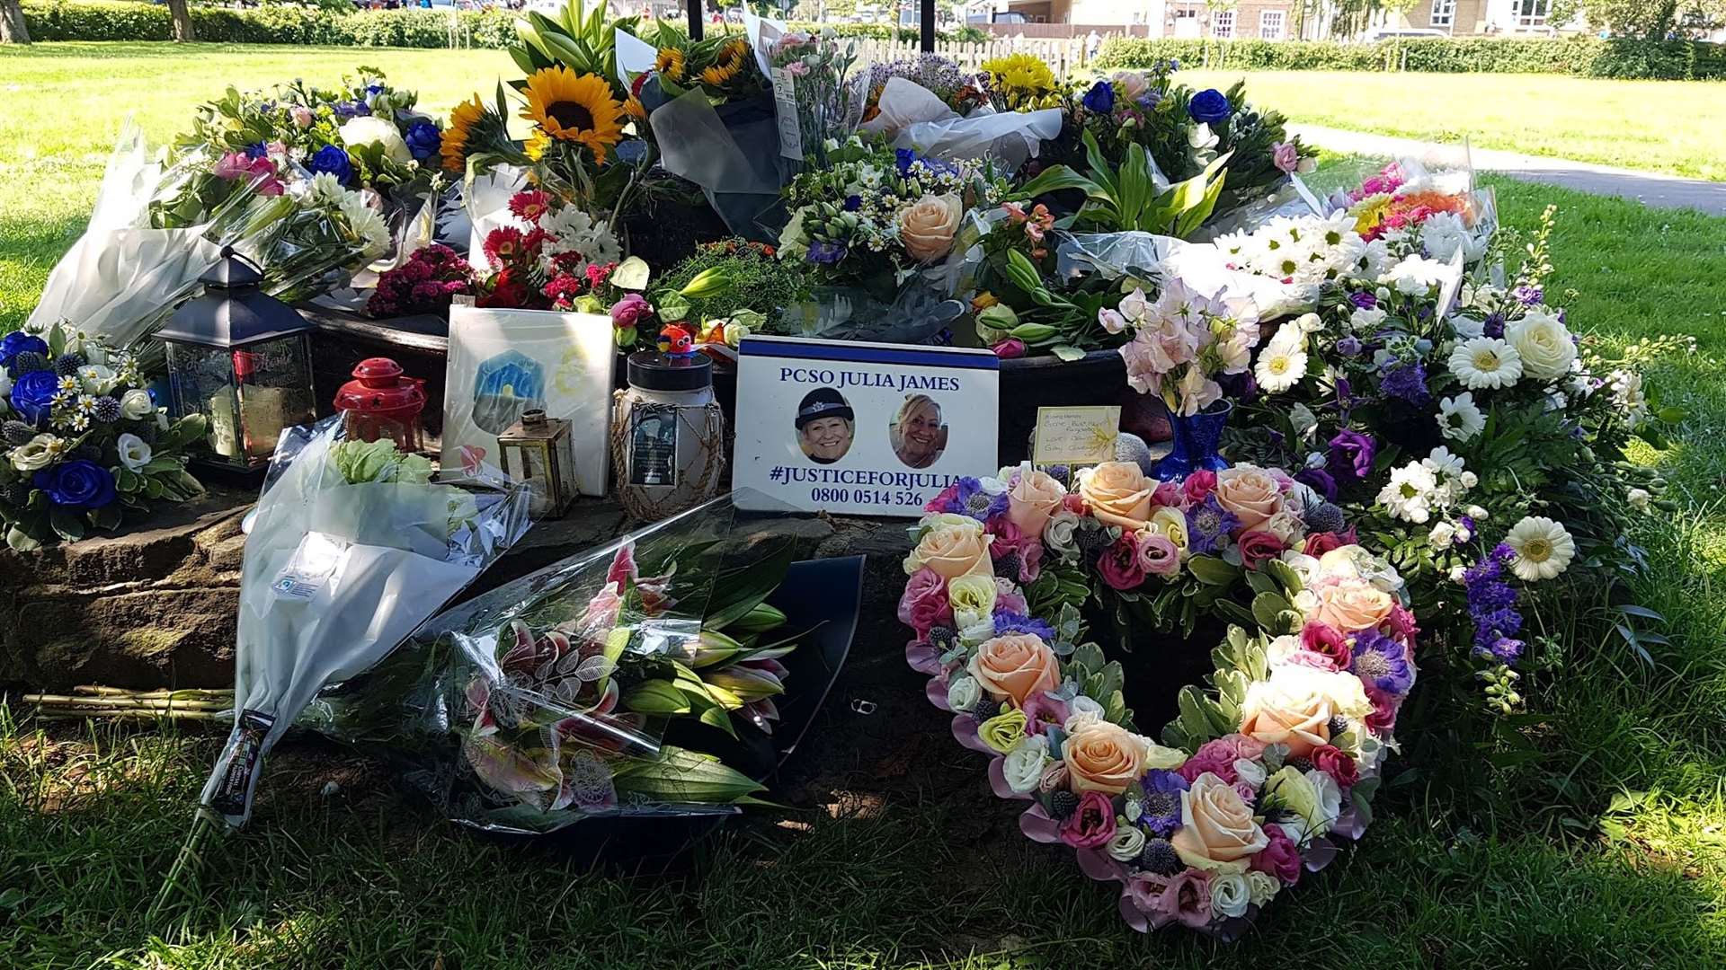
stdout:
[[1726,78],[1726,45],[1600,38],[1433,38],[1379,43],[1201,41],[1113,38],[1098,67],[1150,67],[1177,59],[1232,71],[1434,71],[1445,74],[1578,74],[1583,78]]

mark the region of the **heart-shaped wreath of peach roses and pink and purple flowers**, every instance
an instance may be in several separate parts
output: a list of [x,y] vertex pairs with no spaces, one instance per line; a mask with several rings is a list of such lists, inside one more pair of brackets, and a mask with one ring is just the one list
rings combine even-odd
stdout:
[[[1156,483],[1131,463],[1003,469],[929,504],[899,620],[911,666],[987,753],[1020,828],[1120,882],[1120,913],[1234,939],[1260,906],[1358,839],[1414,685],[1402,578],[1284,471]],[[1241,620],[1158,744],[1118,661],[1084,642],[1086,601],[1201,601]],[[1156,611],[1167,614],[1167,611]]]

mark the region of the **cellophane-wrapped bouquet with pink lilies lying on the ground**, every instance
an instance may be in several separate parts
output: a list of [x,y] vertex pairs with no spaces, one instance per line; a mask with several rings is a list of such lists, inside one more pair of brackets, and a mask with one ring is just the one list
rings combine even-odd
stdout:
[[720,753],[773,732],[801,633],[766,604],[791,544],[742,516],[718,499],[456,606],[302,725],[476,828],[734,813],[763,789]]

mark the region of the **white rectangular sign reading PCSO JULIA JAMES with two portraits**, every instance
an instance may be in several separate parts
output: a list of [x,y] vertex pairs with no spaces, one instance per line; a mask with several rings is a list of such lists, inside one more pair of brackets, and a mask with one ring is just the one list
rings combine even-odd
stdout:
[[[1001,361],[989,350],[746,337],[737,502],[908,516],[963,475],[994,475]],[[747,507],[747,506],[746,506]]]

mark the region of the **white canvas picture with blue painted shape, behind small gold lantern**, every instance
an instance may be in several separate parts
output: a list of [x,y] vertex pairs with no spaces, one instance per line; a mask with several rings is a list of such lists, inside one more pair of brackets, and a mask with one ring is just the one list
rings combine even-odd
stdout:
[[539,407],[570,421],[576,490],[604,495],[614,357],[604,314],[450,307],[444,466],[501,466],[497,435]]

